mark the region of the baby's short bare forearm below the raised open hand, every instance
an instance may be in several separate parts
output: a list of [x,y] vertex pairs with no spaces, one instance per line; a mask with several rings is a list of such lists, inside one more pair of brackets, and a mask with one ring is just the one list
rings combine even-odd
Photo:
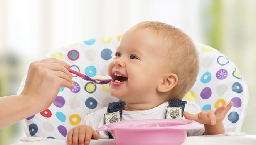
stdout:
[[222,122],[216,122],[215,125],[204,125],[204,135],[222,134],[225,132],[224,125]]

